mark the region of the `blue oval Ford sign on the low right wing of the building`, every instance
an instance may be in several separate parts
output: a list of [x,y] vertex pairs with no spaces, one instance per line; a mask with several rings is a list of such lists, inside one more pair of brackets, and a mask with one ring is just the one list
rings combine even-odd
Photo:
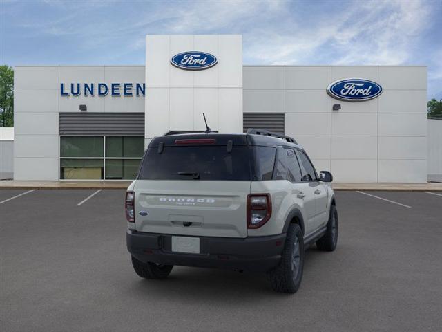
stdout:
[[363,102],[380,95],[382,87],[376,82],[363,78],[346,78],[330,84],[327,87],[327,93],[339,100]]

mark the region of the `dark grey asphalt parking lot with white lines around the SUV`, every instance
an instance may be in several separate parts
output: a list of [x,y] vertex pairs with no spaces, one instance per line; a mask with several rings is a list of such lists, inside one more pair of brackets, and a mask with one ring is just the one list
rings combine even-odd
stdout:
[[123,190],[0,190],[0,330],[442,331],[442,192],[336,196],[338,248],[284,295],[229,270],[140,279]]

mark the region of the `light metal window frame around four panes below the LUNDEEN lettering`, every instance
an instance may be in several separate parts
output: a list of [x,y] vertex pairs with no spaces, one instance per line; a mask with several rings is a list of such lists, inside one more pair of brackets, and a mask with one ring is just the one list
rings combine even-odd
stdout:
[[[102,137],[103,138],[103,156],[102,157],[62,157],[61,156],[61,138],[64,137]],[[106,179],[106,159],[118,159],[118,160],[124,160],[124,159],[131,159],[131,160],[141,160],[144,157],[144,154],[146,153],[146,148],[144,148],[143,154],[141,157],[107,157],[106,156],[106,137],[139,137],[142,138],[144,141],[144,136],[140,135],[59,135],[59,160],[58,160],[58,178],[59,181],[133,181],[138,177],[138,173],[140,172],[140,167],[138,167],[138,173],[135,176],[134,179],[123,179],[123,178],[115,178],[115,179]],[[96,179],[89,179],[89,178],[61,178],[61,159],[99,159],[103,160],[103,178],[96,178]]]

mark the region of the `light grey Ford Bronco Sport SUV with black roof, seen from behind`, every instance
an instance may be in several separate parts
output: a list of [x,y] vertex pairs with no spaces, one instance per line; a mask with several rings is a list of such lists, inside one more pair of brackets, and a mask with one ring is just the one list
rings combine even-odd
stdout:
[[133,268],[148,279],[174,265],[262,271],[273,290],[295,293],[305,249],[336,248],[331,181],[293,138],[269,131],[153,138],[126,192]]

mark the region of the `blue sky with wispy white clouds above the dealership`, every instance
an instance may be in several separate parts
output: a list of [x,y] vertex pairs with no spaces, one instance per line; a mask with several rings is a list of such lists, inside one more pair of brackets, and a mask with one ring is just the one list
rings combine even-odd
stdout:
[[244,64],[424,65],[442,98],[442,0],[0,0],[0,64],[144,64],[147,34],[242,34]]

